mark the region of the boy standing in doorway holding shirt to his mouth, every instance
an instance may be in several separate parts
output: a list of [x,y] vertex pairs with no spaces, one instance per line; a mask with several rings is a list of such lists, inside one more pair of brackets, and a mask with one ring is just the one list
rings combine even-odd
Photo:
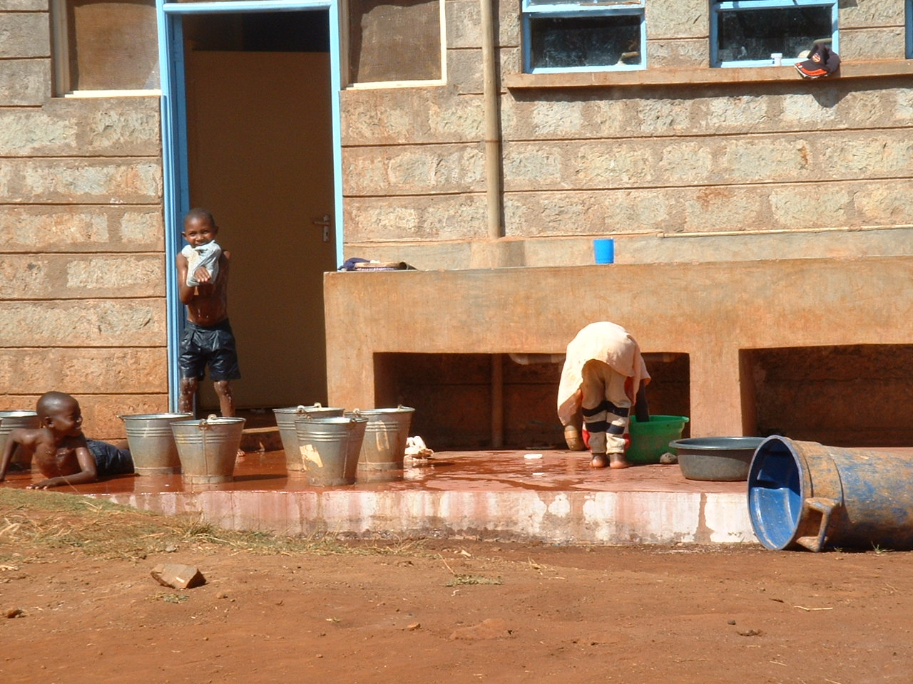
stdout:
[[219,409],[224,417],[231,418],[235,416],[235,400],[230,383],[240,378],[241,372],[235,336],[228,323],[229,254],[215,244],[218,232],[213,215],[205,209],[192,209],[184,216],[183,234],[188,245],[175,257],[178,291],[187,306],[178,409],[193,411],[194,395],[208,366]]

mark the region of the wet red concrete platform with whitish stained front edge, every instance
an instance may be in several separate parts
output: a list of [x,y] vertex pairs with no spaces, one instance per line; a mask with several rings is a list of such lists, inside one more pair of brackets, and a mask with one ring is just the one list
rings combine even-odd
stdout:
[[[686,480],[677,465],[593,470],[585,452],[438,452],[427,465],[346,487],[308,486],[282,451],[248,453],[235,482],[120,476],[62,489],[229,529],[354,537],[470,537],[551,544],[754,543],[745,482]],[[391,481],[391,477],[402,479]],[[25,487],[37,473],[10,473]]]

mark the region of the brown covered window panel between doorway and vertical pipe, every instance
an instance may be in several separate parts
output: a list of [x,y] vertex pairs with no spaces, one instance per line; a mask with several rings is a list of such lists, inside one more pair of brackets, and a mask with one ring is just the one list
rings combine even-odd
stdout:
[[440,0],[349,0],[352,83],[443,78]]

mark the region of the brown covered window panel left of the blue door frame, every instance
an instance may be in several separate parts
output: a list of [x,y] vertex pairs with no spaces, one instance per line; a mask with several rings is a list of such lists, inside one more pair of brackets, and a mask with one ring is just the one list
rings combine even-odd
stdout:
[[[154,0],[63,0],[64,90],[159,88]],[[58,25],[59,26],[59,25]]]

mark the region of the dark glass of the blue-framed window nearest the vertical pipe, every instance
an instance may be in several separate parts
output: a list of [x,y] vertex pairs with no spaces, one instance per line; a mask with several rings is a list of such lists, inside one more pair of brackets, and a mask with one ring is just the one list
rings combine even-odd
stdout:
[[541,67],[640,64],[640,17],[530,17],[531,61]]

